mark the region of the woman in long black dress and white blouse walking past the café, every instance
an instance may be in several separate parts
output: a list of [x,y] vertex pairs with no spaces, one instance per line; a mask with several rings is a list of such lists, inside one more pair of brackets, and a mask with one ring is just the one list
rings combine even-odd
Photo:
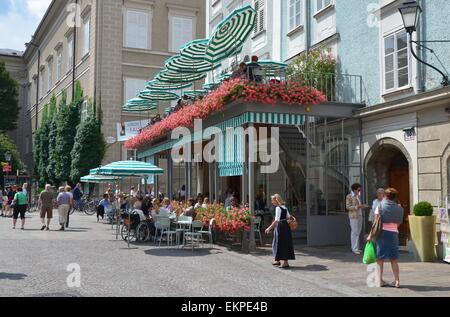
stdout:
[[[272,264],[280,266],[282,269],[287,269],[289,268],[289,260],[295,260],[292,232],[288,223],[291,215],[280,195],[275,194],[272,196],[272,204],[275,206],[275,219],[266,229],[266,234],[274,230],[272,252],[275,260]],[[283,261],[283,264],[280,261]]]

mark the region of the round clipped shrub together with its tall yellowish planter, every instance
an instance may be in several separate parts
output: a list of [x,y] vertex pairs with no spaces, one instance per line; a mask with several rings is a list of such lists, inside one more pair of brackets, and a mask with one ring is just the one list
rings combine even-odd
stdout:
[[433,206],[421,201],[414,205],[413,215],[409,216],[411,239],[418,260],[433,262],[436,260],[436,216],[433,216]]

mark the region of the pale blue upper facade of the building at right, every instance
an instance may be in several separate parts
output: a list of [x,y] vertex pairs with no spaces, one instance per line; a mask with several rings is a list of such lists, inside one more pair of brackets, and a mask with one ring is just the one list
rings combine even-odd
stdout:
[[[327,43],[327,40],[317,41],[315,39],[319,22],[315,15],[315,2],[316,0],[311,0],[309,5],[306,5],[305,2],[302,3],[305,10],[303,15],[304,32],[309,32],[311,39],[311,43],[309,45],[305,43],[305,47],[321,44],[329,46],[330,43]],[[418,32],[414,36],[417,36],[420,41],[450,40],[450,34],[446,31],[450,15],[450,1],[420,0],[418,2],[423,12]],[[384,52],[383,36],[390,32],[393,21],[397,23],[396,30],[399,30],[401,19],[398,7],[401,3],[402,1],[394,1],[380,8],[377,1],[373,0],[334,0],[332,2],[333,8],[330,11],[334,14],[333,27],[335,27],[334,38],[336,40],[333,40],[331,45],[335,45],[338,73],[362,76],[363,99],[367,105],[375,105],[441,87],[442,76],[435,70],[416,62],[409,54],[410,86],[407,87],[409,89],[398,89],[398,91],[394,89],[390,92],[383,90],[384,56],[380,56]],[[282,19],[282,58],[285,61],[289,55],[288,36],[286,35],[289,23],[288,4],[289,0],[282,0],[283,17],[286,17]],[[305,37],[305,41],[307,38]],[[450,71],[450,54],[448,53],[450,43],[423,44],[433,49],[435,55],[426,49],[417,48],[418,55],[442,71],[446,72],[446,69]],[[301,52],[296,52],[296,54],[299,53]]]

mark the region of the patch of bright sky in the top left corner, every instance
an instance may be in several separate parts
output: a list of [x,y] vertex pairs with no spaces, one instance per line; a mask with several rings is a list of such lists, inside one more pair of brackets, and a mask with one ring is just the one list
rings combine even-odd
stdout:
[[0,48],[25,50],[51,0],[0,0]]

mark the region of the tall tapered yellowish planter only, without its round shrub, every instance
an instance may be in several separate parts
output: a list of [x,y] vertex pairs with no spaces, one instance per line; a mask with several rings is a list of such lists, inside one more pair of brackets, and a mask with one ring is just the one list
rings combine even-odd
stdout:
[[411,239],[420,262],[436,260],[436,216],[409,216]]

